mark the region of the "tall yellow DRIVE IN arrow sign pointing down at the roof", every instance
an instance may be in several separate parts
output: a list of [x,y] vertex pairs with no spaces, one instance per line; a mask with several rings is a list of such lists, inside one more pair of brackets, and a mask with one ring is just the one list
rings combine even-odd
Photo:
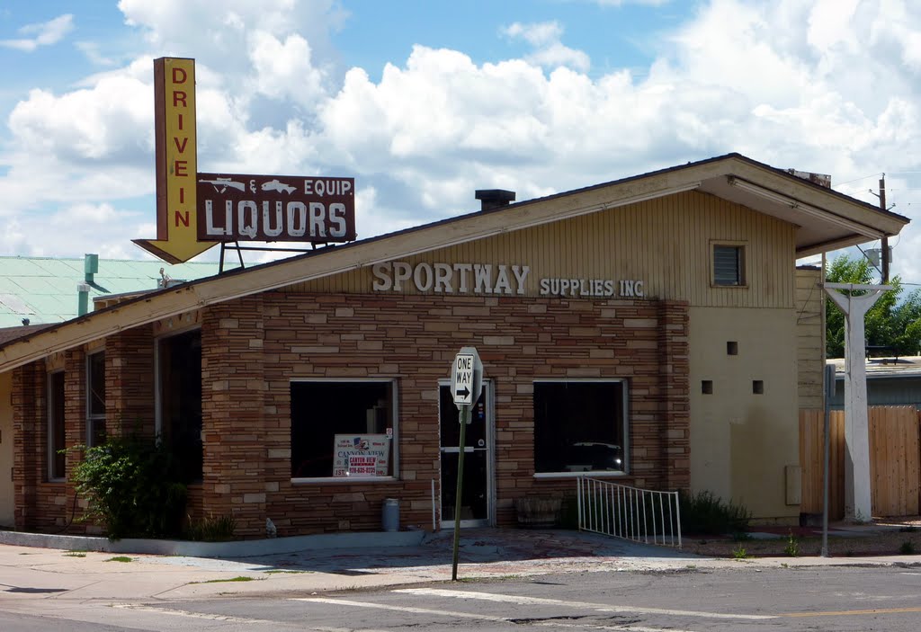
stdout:
[[154,60],[154,124],[157,239],[134,243],[169,263],[181,263],[214,246],[198,241],[194,60]]

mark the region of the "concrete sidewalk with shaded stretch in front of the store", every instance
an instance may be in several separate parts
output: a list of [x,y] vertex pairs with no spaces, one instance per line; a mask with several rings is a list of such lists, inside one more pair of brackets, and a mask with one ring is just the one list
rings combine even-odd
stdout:
[[[116,555],[75,550],[76,546],[0,545],[0,603],[35,599],[149,603],[235,594],[310,594],[450,580],[452,532],[418,534],[416,543],[405,546],[394,545],[389,539],[393,534],[361,534],[362,546],[356,546],[356,534],[349,535],[353,537],[347,547],[334,546],[335,538],[313,547],[277,544],[286,538],[268,541],[279,550],[297,548],[283,552],[267,552],[266,541],[235,543],[239,545],[236,553],[251,555],[234,557]],[[61,546],[60,540],[56,542]],[[739,561],[697,557],[681,550],[635,545],[595,534],[515,529],[462,531],[460,558],[461,579],[604,570],[908,566],[921,562],[915,556]]]

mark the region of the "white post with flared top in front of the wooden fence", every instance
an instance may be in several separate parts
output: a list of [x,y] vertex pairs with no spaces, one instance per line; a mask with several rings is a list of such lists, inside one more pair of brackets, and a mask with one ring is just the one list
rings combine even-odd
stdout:
[[825,283],[824,287],[845,313],[845,520],[866,523],[872,519],[872,500],[864,317],[892,286]]

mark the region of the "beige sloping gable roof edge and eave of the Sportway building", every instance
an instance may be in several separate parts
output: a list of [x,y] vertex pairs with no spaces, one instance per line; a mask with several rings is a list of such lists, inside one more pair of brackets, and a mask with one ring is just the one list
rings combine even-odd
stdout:
[[0,371],[99,339],[118,329],[137,327],[206,305],[688,190],[716,195],[795,224],[798,257],[893,236],[909,221],[902,215],[881,211],[867,202],[743,155],[722,155],[468,213],[344,246],[325,247],[147,293],[0,346]]

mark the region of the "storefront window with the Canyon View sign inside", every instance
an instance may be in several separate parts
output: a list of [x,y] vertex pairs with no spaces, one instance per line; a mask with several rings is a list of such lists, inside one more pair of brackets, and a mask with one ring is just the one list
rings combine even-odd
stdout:
[[393,477],[391,381],[291,383],[291,477]]

